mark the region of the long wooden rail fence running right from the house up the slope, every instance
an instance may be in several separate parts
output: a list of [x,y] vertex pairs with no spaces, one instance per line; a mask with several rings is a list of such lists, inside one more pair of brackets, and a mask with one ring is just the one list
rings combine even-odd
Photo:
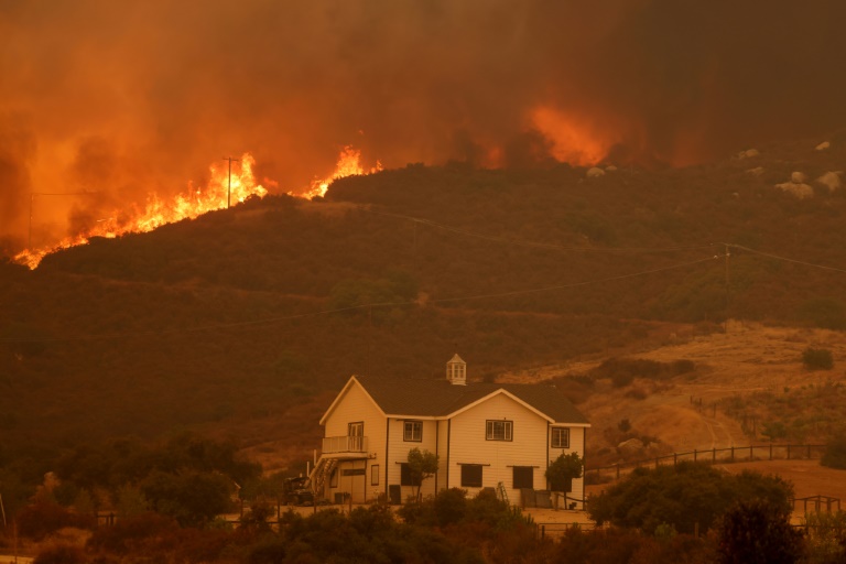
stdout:
[[[594,476],[599,477],[604,473],[614,473],[616,477],[620,477],[620,471],[631,470],[633,468],[642,468],[654,466],[669,465],[671,462],[673,466],[680,462],[693,460],[711,464],[730,464],[739,462],[761,462],[761,460],[774,460],[774,459],[810,459],[821,457],[826,445],[749,445],[749,446],[730,446],[727,448],[711,448],[705,451],[693,449],[687,453],[673,453],[664,456],[655,456],[654,458],[644,458],[631,463],[619,463],[611,466],[603,466],[599,468],[586,468],[585,475],[593,473]],[[758,456],[756,456],[758,453]]]

